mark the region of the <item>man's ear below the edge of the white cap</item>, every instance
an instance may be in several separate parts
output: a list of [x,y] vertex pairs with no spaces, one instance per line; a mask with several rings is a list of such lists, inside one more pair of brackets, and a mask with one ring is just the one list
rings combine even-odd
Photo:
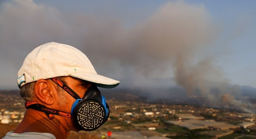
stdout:
[[41,102],[52,105],[54,102],[54,87],[53,85],[45,79],[39,79],[35,83],[35,97],[37,97]]

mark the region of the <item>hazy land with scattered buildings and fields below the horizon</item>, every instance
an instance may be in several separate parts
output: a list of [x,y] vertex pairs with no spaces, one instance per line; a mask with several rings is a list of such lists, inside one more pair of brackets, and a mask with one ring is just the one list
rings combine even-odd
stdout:
[[[124,95],[129,97],[129,94]],[[112,138],[116,139],[256,138],[256,114],[194,105],[145,103],[134,99],[122,101],[114,97],[107,103],[111,110],[108,121],[91,132],[99,137],[112,131]],[[25,110],[18,93],[0,92],[1,124],[8,126],[21,122]]]

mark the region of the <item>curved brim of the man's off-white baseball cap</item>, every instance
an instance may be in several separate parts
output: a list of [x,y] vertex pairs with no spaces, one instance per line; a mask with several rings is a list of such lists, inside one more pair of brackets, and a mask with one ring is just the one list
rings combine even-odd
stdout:
[[73,73],[73,74],[70,74],[70,76],[93,82],[98,87],[102,87],[102,88],[114,88],[118,86],[118,84],[120,83],[120,81],[118,80],[114,80],[99,74],[94,74],[89,72]]

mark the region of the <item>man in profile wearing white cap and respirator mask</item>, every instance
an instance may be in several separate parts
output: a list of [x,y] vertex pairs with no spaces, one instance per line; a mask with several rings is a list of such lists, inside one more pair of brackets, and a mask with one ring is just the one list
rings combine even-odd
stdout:
[[120,81],[97,74],[78,49],[50,42],[28,54],[17,83],[27,110],[4,139],[63,139],[70,131],[97,129],[109,116],[97,87],[113,88]]

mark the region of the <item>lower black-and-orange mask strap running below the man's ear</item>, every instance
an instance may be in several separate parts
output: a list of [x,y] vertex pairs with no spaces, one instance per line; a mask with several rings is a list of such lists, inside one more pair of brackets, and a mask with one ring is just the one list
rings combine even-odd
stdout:
[[36,102],[34,100],[25,102],[25,107],[27,109],[30,108],[30,109],[34,109],[34,110],[37,110],[40,112],[44,112],[46,114],[46,116],[48,116],[49,119],[54,118],[54,115],[72,117],[70,113],[46,108],[45,106],[43,106],[42,104],[39,104],[38,102]]

